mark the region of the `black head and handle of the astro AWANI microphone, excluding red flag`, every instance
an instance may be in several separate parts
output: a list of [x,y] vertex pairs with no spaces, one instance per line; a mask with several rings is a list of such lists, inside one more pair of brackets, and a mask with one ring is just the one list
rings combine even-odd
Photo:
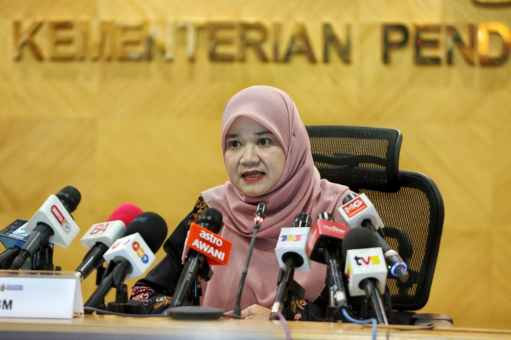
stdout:
[[[218,234],[222,227],[222,213],[215,208],[207,208],[200,215],[199,220],[197,220],[197,224],[215,234]],[[190,289],[192,288],[197,275],[199,275],[199,271],[206,274],[204,277],[201,275],[204,280],[208,281],[211,278],[211,269],[207,265],[205,255],[190,249],[186,256],[187,261],[184,264],[184,269],[179,277],[176,290],[172,296],[172,303],[169,308],[183,305],[183,302],[189,295]]]

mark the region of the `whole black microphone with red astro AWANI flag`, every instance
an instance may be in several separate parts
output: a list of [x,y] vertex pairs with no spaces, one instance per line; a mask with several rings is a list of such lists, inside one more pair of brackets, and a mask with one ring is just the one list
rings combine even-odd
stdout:
[[213,272],[210,264],[227,264],[233,244],[217,235],[221,227],[222,213],[215,208],[207,208],[197,223],[191,223],[184,242],[183,261],[186,259],[186,262],[169,308],[183,305],[198,275],[205,281],[211,279]]

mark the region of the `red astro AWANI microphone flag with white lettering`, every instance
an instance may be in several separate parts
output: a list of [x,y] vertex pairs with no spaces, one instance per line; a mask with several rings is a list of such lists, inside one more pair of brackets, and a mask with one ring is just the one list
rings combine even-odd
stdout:
[[193,249],[206,256],[207,264],[226,265],[233,242],[192,222],[184,245],[183,255],[187,254],[189,249]]

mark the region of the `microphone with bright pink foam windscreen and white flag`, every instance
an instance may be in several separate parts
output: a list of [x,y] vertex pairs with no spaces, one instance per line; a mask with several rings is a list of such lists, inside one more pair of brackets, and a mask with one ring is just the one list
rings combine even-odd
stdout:
[[89,251],[83,257],[82,263],[75,270],[75,275],[82,281],[92,271],[98,269],[105,261],[103,255],[113,242],[120,238],[133,219],[143,213],[142,209],[132,203],[123,203],[118,206],[103,223],[93,224],[80,243]]

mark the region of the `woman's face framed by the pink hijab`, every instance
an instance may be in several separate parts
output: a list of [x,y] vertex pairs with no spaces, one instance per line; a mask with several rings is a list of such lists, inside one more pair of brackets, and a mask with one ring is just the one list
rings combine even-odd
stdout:
[[264,195],[281,177],[286,155],[273,133],[240,116],[227,130],[224,161],[229,181],[245,195],[255,197]]

